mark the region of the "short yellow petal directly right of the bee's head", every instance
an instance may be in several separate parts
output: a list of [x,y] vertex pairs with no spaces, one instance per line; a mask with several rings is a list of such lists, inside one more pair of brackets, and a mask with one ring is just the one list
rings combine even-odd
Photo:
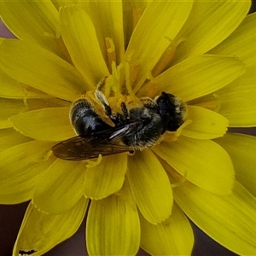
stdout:
[[183,128],[184,136],[197,139],[224,136],[229,122],[222,115],[196,106],[187,106],[187,110],[187,119],[191,119],[192,123]]

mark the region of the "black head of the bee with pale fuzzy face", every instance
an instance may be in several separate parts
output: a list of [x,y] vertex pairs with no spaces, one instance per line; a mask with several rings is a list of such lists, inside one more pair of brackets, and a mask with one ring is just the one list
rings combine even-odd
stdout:
[[159,107],[166,131],[177,131],[184,122],[185,107],[183,102],[170,93],[162,92],[155,100]]

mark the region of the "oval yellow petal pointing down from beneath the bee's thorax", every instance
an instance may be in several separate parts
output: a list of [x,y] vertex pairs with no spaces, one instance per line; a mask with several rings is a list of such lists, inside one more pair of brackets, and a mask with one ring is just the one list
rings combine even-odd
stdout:
[[127,177],[137,207],[150,223],[157,224],[172,212],[172,189],[164,168],[150,150],[128,159]]

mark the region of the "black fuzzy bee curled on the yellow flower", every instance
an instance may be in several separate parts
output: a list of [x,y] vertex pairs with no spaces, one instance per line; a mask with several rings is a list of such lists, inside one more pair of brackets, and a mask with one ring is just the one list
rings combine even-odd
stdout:
[[166,131],[177,131],[184,122],[183,102],[166,92],[154,99],[142,97],[133,107],[121,102],[119,112],[113,112],[101,90],[94,95],[102,111],[86,98],[73,103],[70,120],[78,136],[53,146],[57,158],[89,160],[99,154],[133,153],[154,146]]

